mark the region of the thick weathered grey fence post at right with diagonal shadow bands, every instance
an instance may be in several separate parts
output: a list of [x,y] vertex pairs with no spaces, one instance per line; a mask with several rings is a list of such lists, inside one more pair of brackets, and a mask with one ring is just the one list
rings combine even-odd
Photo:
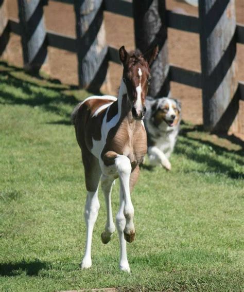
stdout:
[[204,129],[228,132],[238,112],[234,0],[199,1]]

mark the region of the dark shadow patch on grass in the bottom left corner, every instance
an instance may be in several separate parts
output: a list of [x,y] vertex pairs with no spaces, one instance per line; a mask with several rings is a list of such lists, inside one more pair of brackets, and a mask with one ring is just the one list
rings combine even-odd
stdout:
[[0,276],[14,277],[23,272],[26,272],[27,276],[38,276],[38,273],[42,269],[48,269],[49,263],[34,260],[32,262],[22,261],[19,263],[0,263]]

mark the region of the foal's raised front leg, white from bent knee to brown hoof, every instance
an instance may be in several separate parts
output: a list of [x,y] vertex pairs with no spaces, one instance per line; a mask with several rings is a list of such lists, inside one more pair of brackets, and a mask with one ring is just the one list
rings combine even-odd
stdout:
[[118,155],[118,157],[115,158],[115,166],[119,174],[119,180],[123,189],[125,199],[124,215],[126,217],[126,226],[124,233],[126,236],[126,240],[131,242],[134,239],[135,227],[133,224],[134,207],[132,205],[130,196],[130,159],[124,155]]

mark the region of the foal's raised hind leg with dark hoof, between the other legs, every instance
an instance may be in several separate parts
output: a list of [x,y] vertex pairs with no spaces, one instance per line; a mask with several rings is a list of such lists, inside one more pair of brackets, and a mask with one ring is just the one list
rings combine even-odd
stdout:
[[101,188],[104,194],[106,208],[107,208],[107,223],[104,231],[101,234],[102,243],[107,244],[112,238],[112,234],[115,231],[115,225],[113,222],[112,206],[111,206],[111,191],[114,178],[107,175],[101,177]]

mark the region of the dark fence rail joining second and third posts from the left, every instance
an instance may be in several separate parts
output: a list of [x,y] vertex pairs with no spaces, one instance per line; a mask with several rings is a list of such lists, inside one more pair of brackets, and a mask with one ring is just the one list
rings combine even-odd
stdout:
[[67,50],[70,52],[77,52],[76,38],[67,36],[54,31],[47,31],[47,42],[51,47],[55,47],[61,50]]

